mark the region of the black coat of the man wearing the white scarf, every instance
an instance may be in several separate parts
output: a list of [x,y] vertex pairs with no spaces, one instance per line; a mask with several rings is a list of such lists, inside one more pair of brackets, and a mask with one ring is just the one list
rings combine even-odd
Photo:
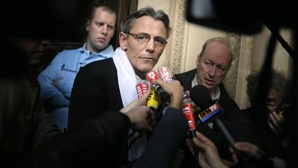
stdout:
[[[108,110],[119,111],[122,108],[117,69],[112,58],[92,62],[80,68],[70,95],[68,114],[70,132],[77,131],[79,124],[86,120],[96,118]],[[119,147],[113,152],[115,160],[110,162],[112,165],[123,156],[123,148]]]

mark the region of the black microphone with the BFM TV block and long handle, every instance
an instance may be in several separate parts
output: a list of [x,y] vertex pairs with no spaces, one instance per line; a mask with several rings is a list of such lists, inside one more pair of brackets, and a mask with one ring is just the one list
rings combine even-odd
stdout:
[[212,120],[215,120],[217,127],[219,127],[221,133],[224,134],[224,137],[226,138],[228,144],[230,144],[230,147],[232,147],[232,149],[234,150],[237,158],[239,158],[238,164],[243,165],[244,167],[250,167],[250,163],[248,162],[246,157],[247,154],[236,149],[234,138],[232,138],[232,135],[230,134],[228,129],[226,129],[226,126],[219,118],[219,115],[224,113],[224,109],[221,108],[217,100],[211,99],[208,88],[206,88],[206,86],[198,84],[190,90],[190,98],[192,102],[195,102],[195,104],[197,104],[197,106],[203,108],[203,110],[201,110],[197,114],[200,124],[206,125]]

